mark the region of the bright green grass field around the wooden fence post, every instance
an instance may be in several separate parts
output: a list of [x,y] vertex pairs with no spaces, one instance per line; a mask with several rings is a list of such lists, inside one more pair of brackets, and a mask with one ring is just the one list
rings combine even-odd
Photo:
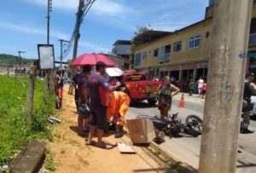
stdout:
[[26,121],[28,78],[0,76],[0,166],[9,164],[31,139],[52,140],[47,118],[54,98],[44,102],[44,81],[36,81],[32,121]]

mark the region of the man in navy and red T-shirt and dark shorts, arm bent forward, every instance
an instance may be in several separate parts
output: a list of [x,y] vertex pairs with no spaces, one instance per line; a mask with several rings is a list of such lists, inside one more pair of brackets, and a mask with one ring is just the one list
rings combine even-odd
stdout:
[[108,84],[108,80],[103,76],[106,73],[106,65],[102,61],[96,63],[96,72],[90,75],[88,79],[88,87],[90,93],[90,112],[91,125],[90,133],[86,145],[93,145],[92,136],[97,128],[97,143],[96,147],[106,147],[102,142],[103,130],[107,124],[107,92],[118,89],[120,83],[117,82],[114,86]]

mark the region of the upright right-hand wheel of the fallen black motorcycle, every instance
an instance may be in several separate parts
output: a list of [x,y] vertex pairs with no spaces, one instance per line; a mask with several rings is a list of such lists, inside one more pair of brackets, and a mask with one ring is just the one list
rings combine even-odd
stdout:
[[189,129],[191,132],[195,132],[198,135],[201,135],[201,130],[202,130],[202,119],[196,115],[189,115],[186,118],[186,123],[189,126]]

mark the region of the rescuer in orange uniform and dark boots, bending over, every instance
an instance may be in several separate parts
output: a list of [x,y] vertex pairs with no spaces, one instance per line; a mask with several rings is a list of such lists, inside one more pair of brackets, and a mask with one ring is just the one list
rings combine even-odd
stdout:
[[108,110],[107,118],[112,124],[115,124],[117,133],[114,135],[115,138],[122,137],[123,127],[125,125],[125,114],[128,111],[130,105],[130,97],[125,93],[126,87],[124,84],[124,78],[119,77],[121,86],[117,91],[108,93]]

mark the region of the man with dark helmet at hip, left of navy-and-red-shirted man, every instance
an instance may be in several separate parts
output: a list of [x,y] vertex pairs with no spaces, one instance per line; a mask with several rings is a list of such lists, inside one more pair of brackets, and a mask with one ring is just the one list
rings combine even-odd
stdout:
[[[78,88],[79,88],[79,107],[82,104],[89,105],[89,89],[88,89],[88,78],[91,72],[91,66],[84,66],[83,71],[79,75]],[[84,122],[85,125],[88,123],[90,116],[85,115],[79,111],[78,125],[79,125],[79,136],[83,136]]]

